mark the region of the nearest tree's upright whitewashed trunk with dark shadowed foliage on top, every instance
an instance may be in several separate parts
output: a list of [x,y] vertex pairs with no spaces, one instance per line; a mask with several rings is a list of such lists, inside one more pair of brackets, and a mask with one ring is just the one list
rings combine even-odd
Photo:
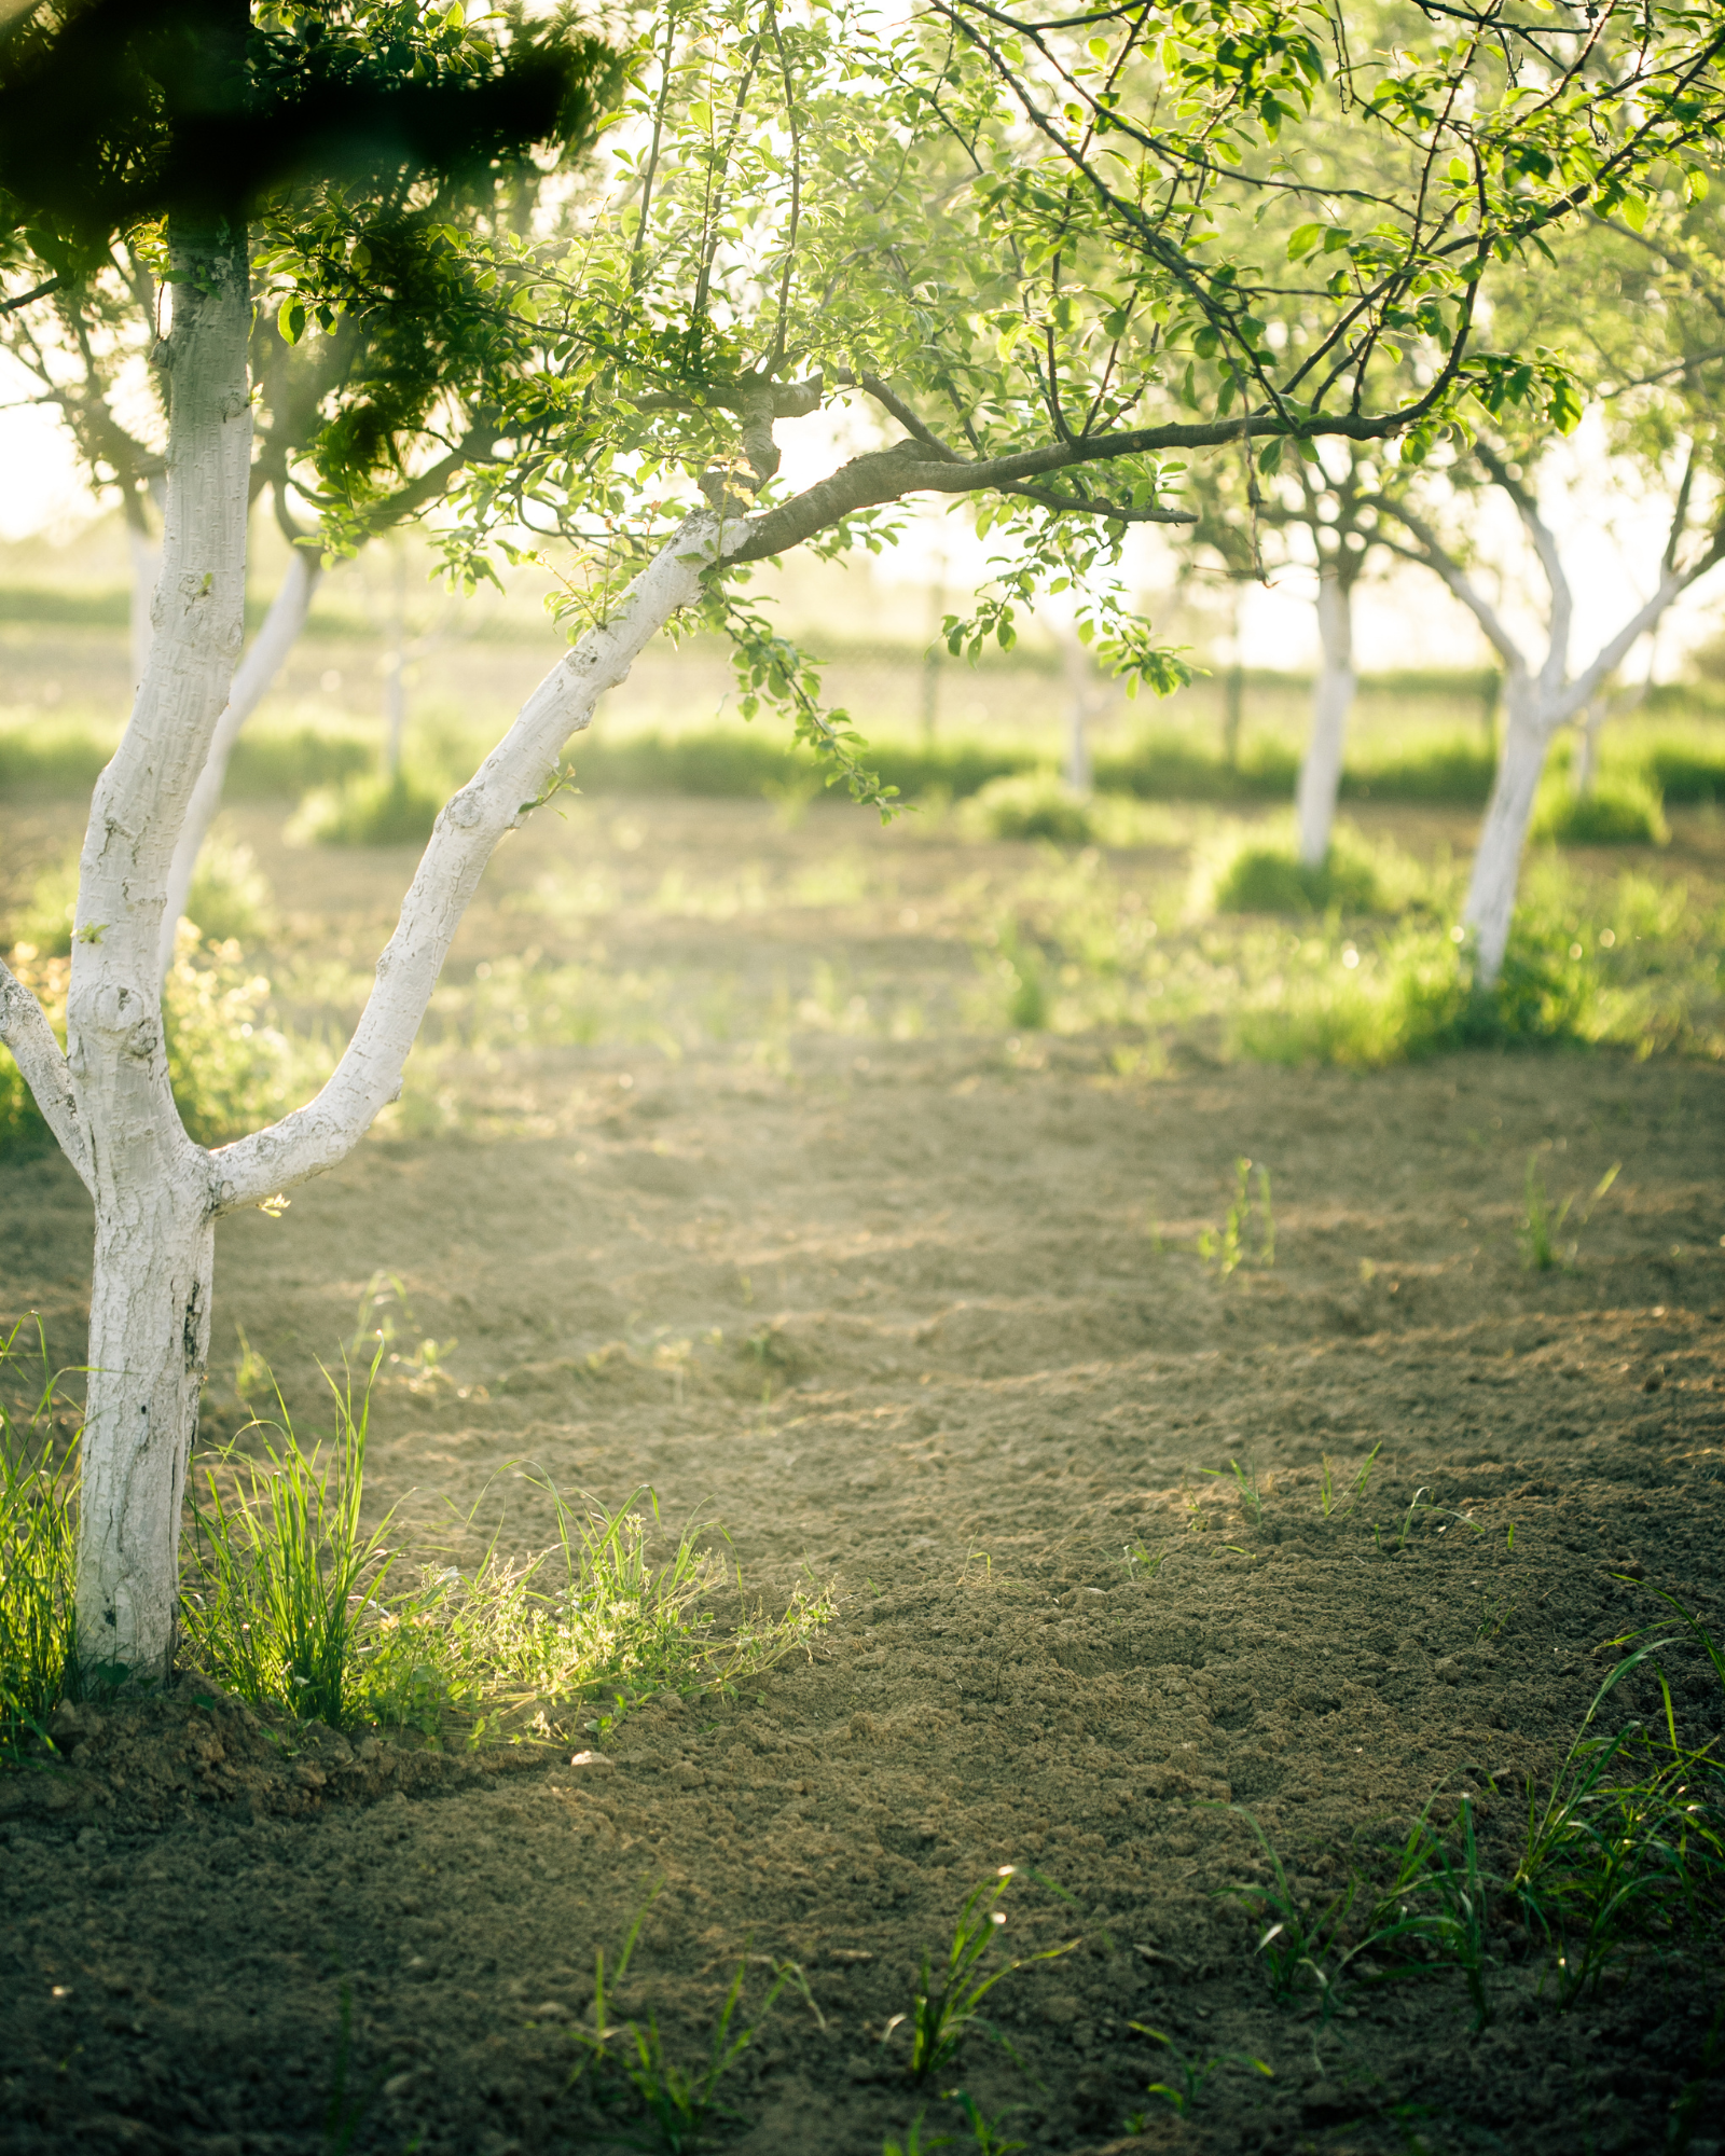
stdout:
[[[360,246],[371,235],[386,259],[367,278],[373,306],[418,315],[399,326],[395,367],[373,367],[332,423],[330,461],[358,474],[436,403],[427,326],[483,336],[494,313],[477,304],[466,321],[455,306],[425,216],[440,185],[580,134],[608,60],[589,39],[498,43],[405,0],[254,13],[233,0],[67,0],[0,34],[6,224],[63,285],[86,276],[116,233],[144,235],[172,306],[157,349],[168,446],[155,636],[91,808],[65,1054],[0,968],[0,1039],[95,1199],[78,1580],[86,1664],[136,1675],[168,1664],[209,1339],[224,1192],[175,1112],[157,953],[175,841],[242,642],[248,226],[287,257],[328,244],[336,226]],[[362,261],[354,274],[367,272]],[[403,293],[412,276],[418,304]]]

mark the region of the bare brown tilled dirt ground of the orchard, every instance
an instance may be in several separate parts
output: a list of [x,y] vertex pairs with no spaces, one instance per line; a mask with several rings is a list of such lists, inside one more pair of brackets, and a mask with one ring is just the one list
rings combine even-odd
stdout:
[[[841,828],[862,843],[822,813],[640,815],[617,860],[643,890],[701,845],[789,875]],[[388,918],[399,858],[250,834],[302,923],[360,946]],[[595,964],[970,977],[906,923],[929,860],[893,871],[891,938],[843,903],[623,908]],[[457,959],[507,934],[498,899]],[[502,1106],[479,1134],[397,1125],[280,1220],[224,1227],[209,1434],[244,1419],[237,1328],[310,1412],[315,1358],[390,1272],[459,1348],[446,1384],[382,1384],[380,1505],[444,1535],[451,1505],[474,1537],[502,1518],[530,1548],[524,1464],[612,1505],[651,1483],[668,1520],[722,1522],[750,1591],[813,1576],[839,1615],[811,1662],[651,1705],[580,1766],[328,1733],[291,1755],[196,1680],[86,1712],[71,1772],[0,1783],[0,2147],[632,2145],[569,2089],[569,2024],[658,1884],[612,2012],[651,2012],[673,2059],[705,2057],[740,1964],[744,2014],[770,1962],[806,1977],[724,2085],[742,2156],[878,2156],[921,2111],[923,2147],[975,2145],[957,2087],[1037,2156],[1662,2152],[1688,2091],[1686,2147],[1719,2156],[1721,1971],[1682,1945],[1563,2009],[1499,1923],[1484,2033],[1453,1977],[1322,2018],[1272,2001],[1223,1889],[1266,1876],[1229,1807],[1322,1904],[1438,1785],[1475,1794],[1512,1865],[1600,1643],[1660,1615],[1645,1589],[1725,1636],[1725,1074],[1190,1054],[1145,1082],[1102,1041],[932,1024],[556,1048],[468,1082],[513,1128]],[[1555,1201],[1583,1194],[1572,1270],[1518,1255],[1535,1149]],[[1270,1169],[1274,1263],[1253,1225],[1220,1276],[1197,1238],[1238,1156]],[[73,1360],[86,1287],[75,1179],[0,1171],[0,1317],[39,1309]],[[1326,1518],[1324,1457],[1348,1492],[1378,1447]],[[1688,1733],[1719,1729],[1699,1656],[1667,1667]],[[919,2089],[908,2031],[882,2033],[1000,1865],[1024,1867],[1000,1955],[1076,1945],[992,1994],[1009,2048],[970,2037]],[[1145,2093],[1177,2074],[1134,2024],[1220,2061],[1188,2117]]]

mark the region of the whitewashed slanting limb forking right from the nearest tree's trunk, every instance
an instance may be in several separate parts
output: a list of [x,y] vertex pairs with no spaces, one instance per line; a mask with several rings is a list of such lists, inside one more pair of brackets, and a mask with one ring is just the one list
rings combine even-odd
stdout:
[[209,1156],[218,1214],[257,1205],[345,1160],[377,1110],[397,1097],[448,944],[498,841],[537,804],[563,744],[591,724],[599,696],[627,679],[640,649],[675,612],[699,599],[703,569],[748,537],[750,524],[740,517],[720,522],[705,509],[690,515],[630,584],[617,612],[565,651],[528,696],[509,733],[438,815],[395,936],[377,959],[377,983],[330,1082],[280,1123]]

